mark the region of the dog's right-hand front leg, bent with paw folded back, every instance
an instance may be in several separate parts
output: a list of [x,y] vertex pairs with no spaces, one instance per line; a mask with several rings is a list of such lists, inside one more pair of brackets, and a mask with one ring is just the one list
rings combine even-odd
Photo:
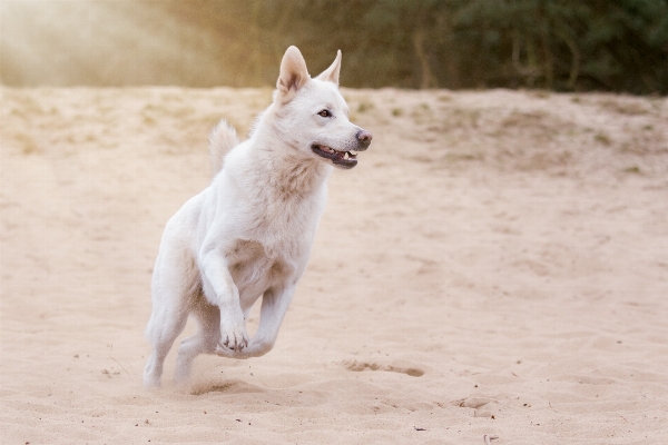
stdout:
[[266,290],[262,297],[259,326],[248,347],[240,352],[230,352],[218,347],[216,353],[230,358],[248,358],[259,357],[272,350],[294,291],[294,285]]

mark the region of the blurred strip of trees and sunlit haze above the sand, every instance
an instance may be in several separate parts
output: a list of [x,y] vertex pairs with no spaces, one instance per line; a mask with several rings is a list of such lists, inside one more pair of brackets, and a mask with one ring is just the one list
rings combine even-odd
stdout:
[[668,0],[0,1],[7,86],[273,86],[296,44],[354,88],[668,93]]

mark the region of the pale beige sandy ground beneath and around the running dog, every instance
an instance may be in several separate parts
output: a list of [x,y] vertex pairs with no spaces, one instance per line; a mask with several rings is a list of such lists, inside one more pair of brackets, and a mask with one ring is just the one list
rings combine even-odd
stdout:
[[271,90],[1,95],[2,444],[667,443],[668,100],[344,90],[275,349],[146,390],[163,227]]

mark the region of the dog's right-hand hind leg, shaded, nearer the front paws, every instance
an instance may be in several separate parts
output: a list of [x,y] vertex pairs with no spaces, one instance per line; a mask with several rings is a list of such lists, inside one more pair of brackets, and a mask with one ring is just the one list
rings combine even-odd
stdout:
[[214,354],[220,340],[220,309],[200,296],[193,306],[193,315],[199,323],[199,332],[185,338],[178,348],[174,379],[184,383],[190,376],[193,360],[199,354]]

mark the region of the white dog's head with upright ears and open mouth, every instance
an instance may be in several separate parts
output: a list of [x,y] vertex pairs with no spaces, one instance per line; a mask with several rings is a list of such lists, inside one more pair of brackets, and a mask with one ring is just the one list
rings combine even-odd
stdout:
[[299,50],[289,47],[281,62],[274,105],[276,123],[299,151],[350,169],[357,165],[357,151],[369,148],[372,135],[348,120],[348,107],[338,92],[340,70],[341,51],[312,79]]

